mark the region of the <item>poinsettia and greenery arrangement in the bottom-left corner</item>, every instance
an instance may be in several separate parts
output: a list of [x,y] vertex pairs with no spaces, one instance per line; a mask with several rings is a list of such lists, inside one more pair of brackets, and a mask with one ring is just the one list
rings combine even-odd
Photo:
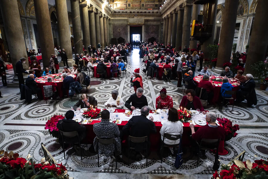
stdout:
[[0,178],[69,178],[62,163],[50,165],[42,158],[41,163],[37,164],[30,157],[28,154],[27,158],[19,158],[19,154],[12,151],[0,151]]

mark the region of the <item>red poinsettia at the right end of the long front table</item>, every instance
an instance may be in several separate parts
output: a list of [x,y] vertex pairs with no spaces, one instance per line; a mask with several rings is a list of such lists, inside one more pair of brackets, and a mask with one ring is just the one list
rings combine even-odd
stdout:
[[232,121],[227,118],[217,118],[220,124],[222,124],[223,129],[225,130],[225,140],[229,141],[231,138],[236,137],[236,131],[239,130],[239,125],[232,125]]

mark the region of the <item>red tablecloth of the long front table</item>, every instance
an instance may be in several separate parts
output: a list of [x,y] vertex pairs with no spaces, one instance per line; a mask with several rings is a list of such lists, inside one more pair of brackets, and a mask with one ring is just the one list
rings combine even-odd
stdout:
[[[116,112],[125,112],[125,109],[116,109]],[[152,113],[152,110],[150,110],[150,113]],[[95,133],[93,132],[93,124],[99,123],[100,121],[94,120],[91,124],[82,124],[86,127],[87,135],[85,140],[82,143],[93,143],[94,138],[96,137]],[[121,124],[117,124],[119,127],[119,130],[123,128],[124,125],[127,124],[128,121],[122,121]],[[160,148],[160,129],[162,127],[161,122],[154,122],[156,127],[156,133],[150,135],[150,142],[151,142],[151,150],[158,150]],[[188,146],[191,145],[189,141],[189,136],[191,135],[191,129],[189,127],[190,123],[184,122],[183,123],[183,137],[182,137],[182,145]],[[199,125],[196,125],[195,131],[199,128]],[[126,136],[125,136],[126,138]],[[219,155],[225,155],[228,151],[224,149],[224,141],[220,142],[219,145]]]

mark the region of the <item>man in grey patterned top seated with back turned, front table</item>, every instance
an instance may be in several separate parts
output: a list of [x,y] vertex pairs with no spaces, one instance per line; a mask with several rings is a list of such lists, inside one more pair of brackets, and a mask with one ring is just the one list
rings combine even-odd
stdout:
[[[120,140],[120,132],[119,128],[116,124],[110,123],[110,112],[108,110],[103,110],[101,112],[102,121],[93,125],[93,131],[96,134],[96,137],[102,139],[112,139],[116,140],[116,155],[121,153],[121,140]],[[94,148],[97,151],[97,141],[96,137],[94,138]],[[115,146],[114,144],[103,145],[101,143],[99,145],[99,154],[104,154],[106,157],[110,157],[110,163],[113,163]]]

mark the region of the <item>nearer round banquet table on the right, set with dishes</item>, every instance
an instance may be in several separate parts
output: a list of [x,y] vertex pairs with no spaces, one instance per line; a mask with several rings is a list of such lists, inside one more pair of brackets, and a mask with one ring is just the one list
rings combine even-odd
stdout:
[[[198,87],[199,82],[202,80],[203,75],[200,76],[196,76],[194,77],[194,82],[196,83],[196,86]],[[213,88],[213,92],[214,92],[214,97],[212,99],[212,103],[216,104],[217,102],[221,101],[221,88],[222,88],[222,82],[218,82],[218,81],[212,81],[212,79],[215,78],[223,78],[220,76],[211,76],[211,78],[209,79],[209,81],[213,84],[214,88]],[[237,91],[239,89],[239,85],[236,85],[236,80],[233,80],[232,78],[229,78],[229,82],[232,84],[233,86],[233,90],[232,91]],[[233,95],[233,98],[235,99],[235,95]],[[230,101],[230,103],[233,103],[233,101]]]

